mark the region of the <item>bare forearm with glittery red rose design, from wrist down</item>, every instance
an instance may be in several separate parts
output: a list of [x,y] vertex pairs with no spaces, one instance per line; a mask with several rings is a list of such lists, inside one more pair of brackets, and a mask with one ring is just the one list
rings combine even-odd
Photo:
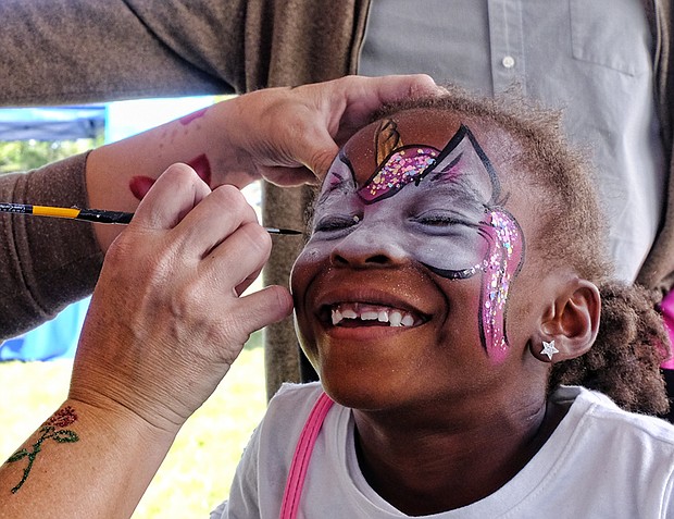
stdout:
[[130,517],[174,437],[68,399],[0,467],[0,517]]

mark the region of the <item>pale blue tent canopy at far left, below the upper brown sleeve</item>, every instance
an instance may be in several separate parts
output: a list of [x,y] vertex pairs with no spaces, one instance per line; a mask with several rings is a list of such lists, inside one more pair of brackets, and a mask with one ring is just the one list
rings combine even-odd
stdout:
[[0,140],[96,138],[104,127],[104,104],[0,109]]

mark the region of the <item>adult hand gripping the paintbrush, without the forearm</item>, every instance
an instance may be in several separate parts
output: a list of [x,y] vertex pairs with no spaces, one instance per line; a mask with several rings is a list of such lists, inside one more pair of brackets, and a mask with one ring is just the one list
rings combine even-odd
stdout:
[[280,286],[241,296],[271,251],[233,186],[171,166],[110,247],[73,368],[70,398],[177,431],[250,333],[288,316]]

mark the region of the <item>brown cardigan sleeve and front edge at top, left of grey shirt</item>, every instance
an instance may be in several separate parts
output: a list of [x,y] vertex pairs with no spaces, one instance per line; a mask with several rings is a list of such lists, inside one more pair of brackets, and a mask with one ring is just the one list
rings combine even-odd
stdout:
[[369,0],[2,0],[0,106],[244,92],[357,70]]

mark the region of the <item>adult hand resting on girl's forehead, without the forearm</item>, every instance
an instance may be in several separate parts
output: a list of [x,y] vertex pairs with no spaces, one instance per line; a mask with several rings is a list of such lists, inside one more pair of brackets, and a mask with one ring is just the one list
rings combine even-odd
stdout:
[[248,171],[253,180],[282,186],[315,183],[338,147],[382,106],[440,91],[429,76],[417,74],[347,76],[240,96],[212,108],[226,129],[219,134],[226,143],[221,160],[229,173]]

